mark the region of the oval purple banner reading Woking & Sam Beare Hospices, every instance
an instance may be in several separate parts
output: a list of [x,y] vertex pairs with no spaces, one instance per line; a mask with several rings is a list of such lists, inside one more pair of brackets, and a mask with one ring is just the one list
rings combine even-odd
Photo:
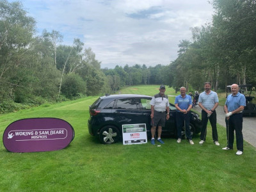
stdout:
[[60,118],[26,118],[8,125],[3,134],[10,152],[60,150],[74,139],[72,125]]

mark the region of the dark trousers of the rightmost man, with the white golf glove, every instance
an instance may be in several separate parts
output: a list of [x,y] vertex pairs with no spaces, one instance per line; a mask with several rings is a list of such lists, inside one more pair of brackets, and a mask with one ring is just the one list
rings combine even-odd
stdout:
[[236,131],[236,147],[237,150],[243,151],[244,140],[243,140],[243,113],[236,113],[231,115],[229,120],[226,118],[227,125],[227,140],[228,148],[233,148],[234,144],[234,131]]

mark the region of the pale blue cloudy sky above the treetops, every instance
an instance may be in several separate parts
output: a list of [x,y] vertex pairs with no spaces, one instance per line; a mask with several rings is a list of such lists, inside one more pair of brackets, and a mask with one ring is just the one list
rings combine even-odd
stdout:
[[168,65],[177,58],[190,28],[212,20],[207,0],[20,0],[36,20],[38,35],[46,29],[91,48],[101,68],[145,64]]

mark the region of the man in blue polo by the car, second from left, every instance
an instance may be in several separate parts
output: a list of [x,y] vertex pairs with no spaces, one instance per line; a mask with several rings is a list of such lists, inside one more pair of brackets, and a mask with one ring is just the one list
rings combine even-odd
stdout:
[[176,125],[177,125],[177,143],[181,141],[181,129],[184,122],[186,129],[186,137],[189,140],[191,145],[194,145],[192,141],[191,131],[189,129],[189,118],[190,118],[190,109],[192,108],[192,99],[190,95],[186,94],[186,88],[182,86],[180,88],[180,95],[175,97],[175,107],[176,111]]

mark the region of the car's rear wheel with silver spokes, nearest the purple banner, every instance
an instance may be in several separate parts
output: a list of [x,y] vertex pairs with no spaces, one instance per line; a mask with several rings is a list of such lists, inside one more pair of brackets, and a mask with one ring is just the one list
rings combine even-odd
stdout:
[[103,144],[112,144],[120,139],[120,133],[116,127],[108,125],[100,130],[99,138]]

